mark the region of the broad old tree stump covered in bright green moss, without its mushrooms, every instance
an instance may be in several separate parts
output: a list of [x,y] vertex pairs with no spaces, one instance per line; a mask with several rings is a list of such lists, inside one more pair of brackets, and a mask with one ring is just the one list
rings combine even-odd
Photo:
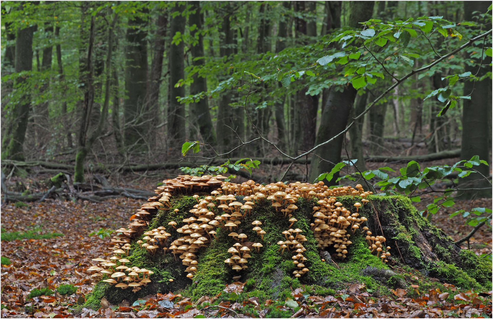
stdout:
[[[388,258],[389,264],[412,267],[427,276],[464,289],[491,289],[491,265],[472,252],[460,250],[441,229],[430,225],[420,216],[407,197],[369,195],[366,198],[370,201],[359,208],[359,214],[367,218],[366,226],[375,236],[386,237],[385,245],[390,246],[392,252]],[[243,202],[243,196],[236,196],[236,199]],[[361,198],[340,196],[337,200],[348,210],[355,211],[353,205],[361,201]],[[193,214],[189,213],[189,210],[193,209],[197,200],[192,196],[178,195],[171,198],[170,204],[171,209],[157,212],[148,229],[165,226],[166,231],[171,233],[168,240],[172,242],[183,234],[176,232],[168,223],[174,221],[180,225],[183,219],[191,217]],[[133,302],[148,294],[167,293],[170,290],[179,291],[192,300],[221,292],[224,296],[227,294],[223,289],[234,281],[245,283],[244,291],[250,291],[252,295],[264,300],[285,300],[291,296],[293,289],[301,286],[309,293],[326,295],[354,283],[365,284],[374,293],[385,294],[388,293],[388,288],[403,285],[398,276],[380,271],[388,270],[389,267],[380,257],[370,252],[365,235],[360,230],[356,230],[351,237],[352,244],[348,247],[347,258],[331,260],[330,255],[335,253],[335,248],[329,247],[321,252],[310,226],[313,222],[312,209],[317,205],[317,199],[307,200],[299,197],[296,205],[298,209],[292,212],[292,217],[296,218],[297,222],[292,227],[301,229],[306,236],[307,241],[303,242],[306,251],[303,255],[307,258],[305,265],[310,269],[301,277],[296,278],[292,274],[295,270],[292,253],[285,250],[281,254],[280,245],[277,244],[278,241],[285,240],[282,231],[290,228],[291,223],[271,206],[269,200],[264,200],[256,203],[251,214],[246,214],[239,229],[235,230],[237,233],[245,233],[248,241],[260,242],[263,245],[260,253],[251,251],[248,268],[237,272],[224,262],[231,257],[228,248],[237,242],[228,236],[230,231],[227,228],[217,227],[216,239],[212,238],[208,247],[201,247],[196,253],[198,264],[192,279],[186,277],[186,266],[181,260],[175,261],[173,255],[165,255],[162,250],[150,255],[134,241],[127,258],[132,266],[151,270],[152,282],[134,293],[131,289],[122,290],[101,281],[94,287],[84,307],[99,308],[103,296],[110,303],[118,304],[124,299]],[[263,240],[252,230],[251,223],[255,220],[262,222],[262,229],[266,232]],[[141,235],[137,239],[143,237],[144,235]],[[387,276],[384,280],[379,277],[380,273],[396,278]],[[233,277],[237,276],[241,278],[234,280]],[[170,282],[170,279],[173,281]]]

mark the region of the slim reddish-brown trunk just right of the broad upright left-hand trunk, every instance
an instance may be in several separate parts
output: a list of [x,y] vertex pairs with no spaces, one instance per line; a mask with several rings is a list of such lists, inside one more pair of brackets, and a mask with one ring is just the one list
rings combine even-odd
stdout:
[[152,121],[147,129],[147,136],[151,149],[156,147],[156,126],[159,121],[159,88],[161,86],[161,75],[163,73],[163,57],[165,47],[166,26],[168,25],[168,16],[160,14],[156,21],[156,40],[154,41],[154,57],[151,64],[148,87],[148,113]]

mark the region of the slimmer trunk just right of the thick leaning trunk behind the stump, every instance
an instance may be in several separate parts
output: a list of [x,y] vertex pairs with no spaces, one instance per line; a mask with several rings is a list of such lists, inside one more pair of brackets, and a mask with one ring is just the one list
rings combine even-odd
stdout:
[[[366,108],[366,100],[368,97],[368,91],[365,91],[362,95],[356,97],[354,102],[354,107],[352,108],[351,118],[355,118],[361,114]],[[366,170],[365,157],[363,153],[363,143],[361,142],[363,134],[363,122],[364,118],[361,118],[354,123],[354,125],[349,129],[349,136],[351,138],[351,159],[358,160],[356,162],[356,167],[360,171]]]

